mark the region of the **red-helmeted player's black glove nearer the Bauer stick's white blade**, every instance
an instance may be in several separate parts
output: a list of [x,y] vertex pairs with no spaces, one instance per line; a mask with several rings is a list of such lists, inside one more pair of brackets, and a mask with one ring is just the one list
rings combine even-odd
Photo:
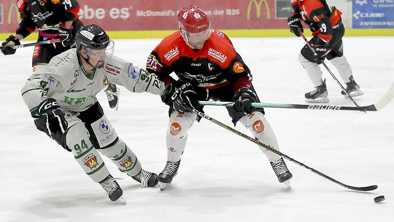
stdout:
[[256,110],[252,107],[252,102],[257,101],[257,95],[252,89],[248,87],[242,87],[234,95],[234,108],[237,112],[251,114]]

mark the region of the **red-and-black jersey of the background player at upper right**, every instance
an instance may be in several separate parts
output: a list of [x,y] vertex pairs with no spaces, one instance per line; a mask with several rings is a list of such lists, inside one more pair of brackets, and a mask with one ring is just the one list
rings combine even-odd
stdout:
[[301,14],[306,25],[324,42],[332,39],[333,30],[342,22],[342,12],[330,8],[326,0],[291,0],[293,16]]

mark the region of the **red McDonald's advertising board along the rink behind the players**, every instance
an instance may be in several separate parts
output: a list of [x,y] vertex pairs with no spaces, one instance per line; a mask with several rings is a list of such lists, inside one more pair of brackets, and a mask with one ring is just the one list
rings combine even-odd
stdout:
[[[50,1],[50,0],[49,0]],[[108,31],[175,30],[178,10],[196,5],[205,11],[215,29],[284,29],[287,21],[277,18],[278,2],[289,0],[79,0],[80,19]],[[0,32],[15,32],[18,27],[17,0],[0,3]],[[290,7],[290,5],[289,5]],[[283,7],[281,7],[283,8]]]

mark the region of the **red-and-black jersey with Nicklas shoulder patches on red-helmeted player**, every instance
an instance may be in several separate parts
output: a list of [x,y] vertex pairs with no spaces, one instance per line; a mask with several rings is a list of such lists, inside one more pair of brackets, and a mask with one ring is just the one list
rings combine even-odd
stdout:
[[174,72],[184,82],[204,88],[234,84],[234,90],[250,85],[250,70],[227,36],[212,29],[200,50],[190,48],[180,31],[167,36],[149,55],[146,69],[160,80],[174,83]]

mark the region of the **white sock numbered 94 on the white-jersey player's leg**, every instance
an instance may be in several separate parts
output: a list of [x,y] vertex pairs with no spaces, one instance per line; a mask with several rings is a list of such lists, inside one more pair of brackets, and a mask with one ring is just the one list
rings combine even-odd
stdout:
[[69,128],[66,143],[75,160],[94,182],[100,182],[109,175],[103,159],[89,140],[84,123],[78,122]]

